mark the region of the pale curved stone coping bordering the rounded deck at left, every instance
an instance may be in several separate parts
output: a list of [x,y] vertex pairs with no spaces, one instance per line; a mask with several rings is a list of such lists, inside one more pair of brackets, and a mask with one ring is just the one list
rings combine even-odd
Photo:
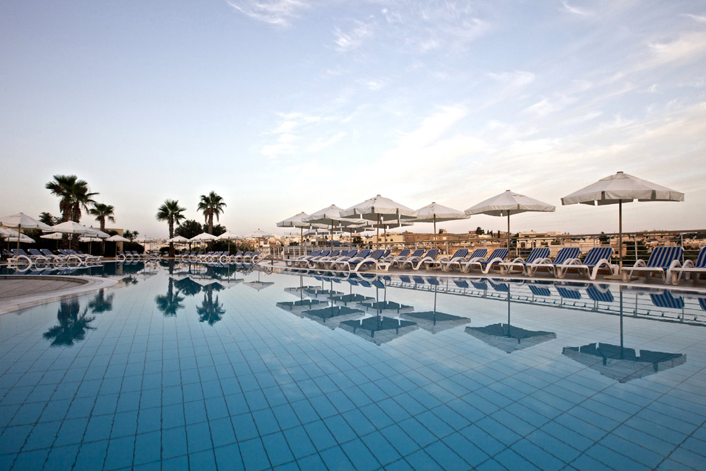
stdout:
[[76,283],[77,286],[64,288],[63,290],[48,291],[37,294],[25,294],[18,297],[10,297],[6,301],[0,301],[0,315],[10,312],[20,311],[32,306],[59,301],[77,294],[86,294],[106,288],[116,287],[118,280],[111,278],[99,278],[95,276],[63,276],[63,275],[0,275],[0,280],[66,280]]

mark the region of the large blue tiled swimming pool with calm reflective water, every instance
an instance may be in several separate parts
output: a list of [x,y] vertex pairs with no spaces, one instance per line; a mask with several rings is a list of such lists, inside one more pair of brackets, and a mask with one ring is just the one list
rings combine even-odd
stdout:
[[0,316],[3,469],[704,467],[706,296],[94,274],[124,286]]

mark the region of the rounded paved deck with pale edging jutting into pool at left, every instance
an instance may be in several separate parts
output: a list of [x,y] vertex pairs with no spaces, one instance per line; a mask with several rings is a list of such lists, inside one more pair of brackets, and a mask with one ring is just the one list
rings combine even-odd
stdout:
[[0,314],[117,284],[117,280],[89,276],[0,275]]

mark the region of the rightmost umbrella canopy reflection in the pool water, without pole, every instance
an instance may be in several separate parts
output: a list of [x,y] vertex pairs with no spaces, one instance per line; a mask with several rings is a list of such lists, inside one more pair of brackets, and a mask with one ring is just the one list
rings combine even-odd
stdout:
[[564,347],[562,354],[621,383],[686,363],[686,355],[680,353],[640,350],[638,356],[632,348],[609,343]]

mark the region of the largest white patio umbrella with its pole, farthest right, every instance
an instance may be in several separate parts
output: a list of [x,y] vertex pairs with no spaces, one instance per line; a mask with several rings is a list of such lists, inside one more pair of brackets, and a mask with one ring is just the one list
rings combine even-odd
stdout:
[[618,257],[623,270],[623,203],[638,201],[684,201],[684,193],[618,172],[561,198],[562,205],[618,204]]

